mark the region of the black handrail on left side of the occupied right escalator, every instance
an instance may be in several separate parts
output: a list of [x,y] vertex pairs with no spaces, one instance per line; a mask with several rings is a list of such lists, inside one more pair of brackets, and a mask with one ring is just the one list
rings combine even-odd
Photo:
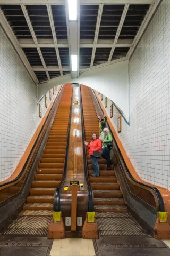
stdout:
[[81,105],[81,128],[82,128],[82,143],[83,143],[83,163],[84,163],[84,175],[86,178],[87,188],[88,188],[88,212],[94,212],[94,200],[93,192],[89,182],[89,175],[87,169],[87,155],[86,155],[86,146],[84,145],[85,134],[84,134],[84,117],[83,117],[83,106],[82,106],[82,97],[81,97],[81,86],[80,86],[80,105]]

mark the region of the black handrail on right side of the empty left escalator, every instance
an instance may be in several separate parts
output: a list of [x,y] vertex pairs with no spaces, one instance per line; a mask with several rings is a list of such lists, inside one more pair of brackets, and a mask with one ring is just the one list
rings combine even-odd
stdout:
[[60,188],[63,186],[66,178],[66,172],[67,172],[67,160],[68,160],[68,153],[69,153],[69,141],[70,141],[70,126],[71,126],[71,113],[72,113],[72,105],[73,105],[73,98],[71,98],[71,105],[70,105],[70,114],[69,114],[69,124],[68,124],[68,132],[67,132],[67,142],[66,142],[66,150],[65,150],[65,160],[64,160],[64,171],[62,180],[60,182],[60,185],[56,187],[56,191],[54,193],[54,204],[53,204],[53,211],[54,212],[60,212],[61,211],[61,205],[60,205]]

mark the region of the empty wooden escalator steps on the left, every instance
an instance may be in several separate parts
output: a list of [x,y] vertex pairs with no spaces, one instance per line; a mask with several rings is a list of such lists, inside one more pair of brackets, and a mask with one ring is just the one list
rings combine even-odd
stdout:
[[29,196],[18,218],[2,234],[47,235],[52,220],[54,193],[60,186],[64,169],[71,98],[72,88],[66,84]]

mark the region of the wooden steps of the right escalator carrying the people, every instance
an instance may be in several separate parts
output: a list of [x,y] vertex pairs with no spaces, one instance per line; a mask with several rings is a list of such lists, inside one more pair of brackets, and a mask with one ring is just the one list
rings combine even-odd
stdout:
[[[81,85],[84,132],[86,141],[92,140],[92,134],[99,134],[99,123],[94,101],[89,87]],[[87,150],[88,151],[88,150]],[[114,168],[106,170],[106,160],[99,159],[99,177],[93,174],[90,155],[87,152],[88,174],[94,191],[94,210],[100,236],[113,235],[146,235],[145,231],[133,219],[126,208],[120,184],[117,182]]]

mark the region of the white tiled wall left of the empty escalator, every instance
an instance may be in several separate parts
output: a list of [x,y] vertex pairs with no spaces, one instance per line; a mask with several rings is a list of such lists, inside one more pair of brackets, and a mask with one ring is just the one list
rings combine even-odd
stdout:
[[[52,100],[58,90],[52,90]],[[44,116],[44,98],[40,105]],[[0,27],[0,181],[18,165],[41,121],[38,111],[37,87]]]

